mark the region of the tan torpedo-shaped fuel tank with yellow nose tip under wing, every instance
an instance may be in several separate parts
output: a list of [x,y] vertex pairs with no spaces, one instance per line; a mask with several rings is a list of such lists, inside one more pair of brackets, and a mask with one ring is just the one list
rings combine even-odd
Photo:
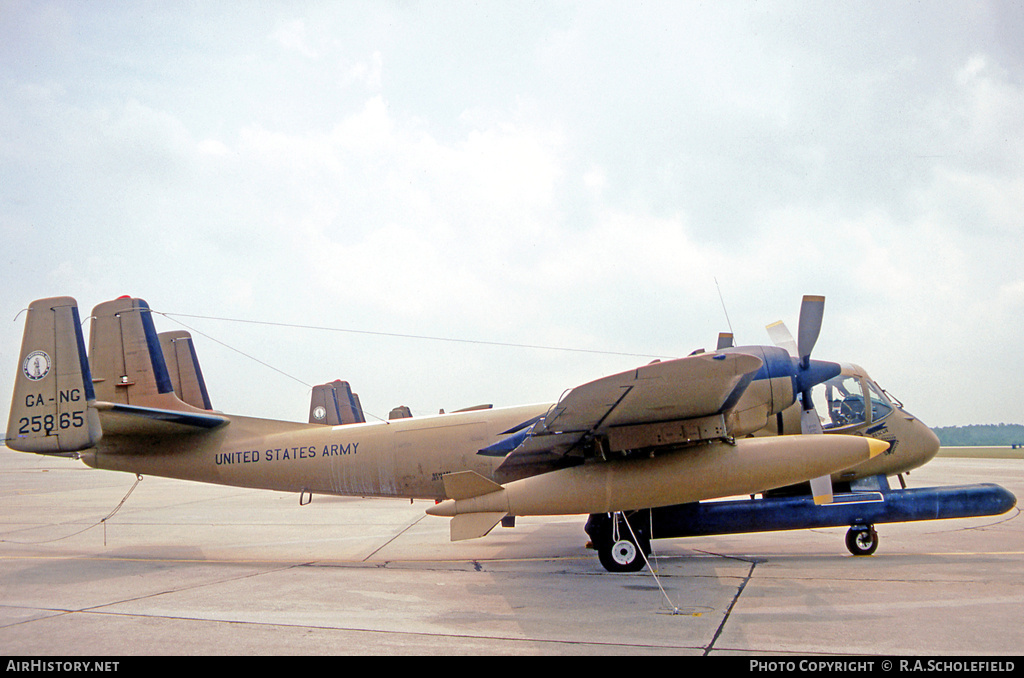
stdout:
[[[668,506],[763,492],[866,461],[889,444],[849,435],[715,441],[653,458],[595,462],[499,485],[472,471],[444,476],[451,498],[427,510],[455,516],[452,538],[482,537],[505,515],[571,515]],[[472,528],[461,529],[461,516]],[[486,519],[484,519],[486,516]],[[486,524],[489,523],[489,524]]]

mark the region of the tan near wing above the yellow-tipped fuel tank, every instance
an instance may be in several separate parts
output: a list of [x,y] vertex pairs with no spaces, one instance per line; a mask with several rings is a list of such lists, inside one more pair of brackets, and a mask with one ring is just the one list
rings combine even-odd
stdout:
[[705,353],[604,377],[571,389],[542,419],[510,429],[510,437],[480,454],[504,456],[498,472],[516,474],[588,449],[600,454],[726,437],[725,414],[761,365],[753,355]]

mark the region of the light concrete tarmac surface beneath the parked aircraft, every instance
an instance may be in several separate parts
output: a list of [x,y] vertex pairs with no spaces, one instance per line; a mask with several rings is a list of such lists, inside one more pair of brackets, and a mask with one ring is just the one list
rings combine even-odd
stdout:
[[[1019,655],[1024,518],[654,542],[605,571],[585,516],[449,541],[427,502],[96,471],[0,449],[0,653]],[[1024,460],[939,457],[911,488]]]

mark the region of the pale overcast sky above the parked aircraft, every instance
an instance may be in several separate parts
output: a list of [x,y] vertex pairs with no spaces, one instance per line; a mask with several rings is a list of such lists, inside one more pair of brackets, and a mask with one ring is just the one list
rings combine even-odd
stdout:
[[339,378],[371,418],[553,401],[823,294],[815,357],[1024,423],[1021,36],[1010,1],[0,0],[0,407],[47,296],[463,340],[157,317],[215,408],[304,420]]

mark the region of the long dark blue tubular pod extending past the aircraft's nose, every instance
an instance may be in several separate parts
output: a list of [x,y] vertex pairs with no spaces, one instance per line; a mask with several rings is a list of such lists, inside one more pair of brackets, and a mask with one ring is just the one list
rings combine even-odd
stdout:
[[809,496],[697,502],[651,510],[651,534],[665,539],[846,527],[886,522],[1000,515],[1017,504],[997,484],[837,494],[831,504]]

